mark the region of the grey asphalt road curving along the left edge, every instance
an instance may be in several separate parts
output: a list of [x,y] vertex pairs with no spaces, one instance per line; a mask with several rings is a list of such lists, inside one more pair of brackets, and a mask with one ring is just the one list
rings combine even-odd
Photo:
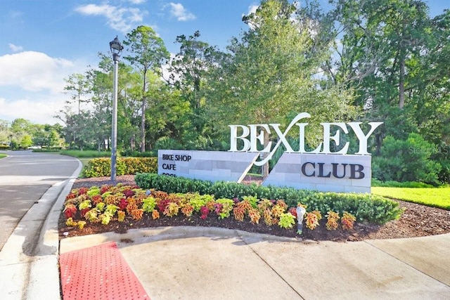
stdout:
[[20,219],[46,190],[70,178],[78,159],[65,155],[25,151],[0,151],[0,250]]

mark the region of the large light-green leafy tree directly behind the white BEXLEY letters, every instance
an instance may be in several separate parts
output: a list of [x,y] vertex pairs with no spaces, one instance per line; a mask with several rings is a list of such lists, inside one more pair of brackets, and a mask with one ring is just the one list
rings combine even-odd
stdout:
[[[309,121],[318,124],[352,115],[351,93],[322,85],[318,74],[327,53],[315,48],[313,33],[295,18],[296,11],[288,1],[267,0],[243,18],[250,29],[240,41],[232,39],[231,55],[218,68],[213,86],[212,109],[228,122],[286,124],[299,112],[309,112]],[[317,142],[317,130],[309,131],[310,143]]]

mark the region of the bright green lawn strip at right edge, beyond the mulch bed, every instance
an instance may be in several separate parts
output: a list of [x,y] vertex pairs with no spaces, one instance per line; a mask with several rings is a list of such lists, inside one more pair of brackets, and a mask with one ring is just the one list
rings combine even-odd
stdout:
[[450,210],[450,188],[383,188],[372,187],[375,195],[425,204]]

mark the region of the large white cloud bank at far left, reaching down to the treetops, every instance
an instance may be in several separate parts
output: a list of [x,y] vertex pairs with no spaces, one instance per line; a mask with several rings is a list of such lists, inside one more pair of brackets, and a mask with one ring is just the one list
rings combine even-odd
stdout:
[[70,96],[63,94],[64,78],[83,73],[85,62],[51,58],[25,51],[0,56],[0,119],[28,119],[37,124],[55,124],[53,115]]

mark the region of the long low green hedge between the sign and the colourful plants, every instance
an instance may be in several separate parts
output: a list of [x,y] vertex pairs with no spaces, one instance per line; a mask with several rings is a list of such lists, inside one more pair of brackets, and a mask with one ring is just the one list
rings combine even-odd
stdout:
[[202,181],[182,177],[158,174],[136,174],[134,177],[140,188],[165,191],[166,193],[200,193],[214,195],[219,198],[238,198],[255,196],[258,199],[285,200],[290,207],[297,203],[307,206],[308,211],[319,210],[324,216],[328,211],[343,214],[347,211],[356,216],[358,221],[384,224],[399,219],[402,210],[399,204],[385,197],[371,194],[323,193],[314,190],[297,190],[295,188],[279,188],[275,186],[244,185],[241,183]]

